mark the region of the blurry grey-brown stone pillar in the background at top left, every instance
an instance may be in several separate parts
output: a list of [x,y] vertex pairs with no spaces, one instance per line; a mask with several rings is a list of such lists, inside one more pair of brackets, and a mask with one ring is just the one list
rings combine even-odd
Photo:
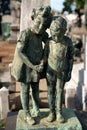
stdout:
[[11,0],[11,16],[12,16],[12,23],[10,25],[10,37],[8,38],[8,42],[16,43],[17,42],[17,35],[20,30],[20,2]]

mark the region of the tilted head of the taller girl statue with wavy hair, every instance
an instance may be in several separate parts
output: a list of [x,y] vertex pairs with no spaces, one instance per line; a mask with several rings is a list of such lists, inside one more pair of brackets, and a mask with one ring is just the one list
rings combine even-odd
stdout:
[[33,20],[32,31],[37,34],[43,33],[51,24],[52,14],[50,6],[34,8],[31,18]]

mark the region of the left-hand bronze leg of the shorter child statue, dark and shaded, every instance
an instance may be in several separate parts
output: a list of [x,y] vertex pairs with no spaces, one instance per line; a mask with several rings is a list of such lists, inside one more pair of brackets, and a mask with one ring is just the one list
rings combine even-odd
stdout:
[[48,87],[48,103],[50,108],[49,116],[47,117],[48,122],[53,122],[56,119],[55,115],[55,82],[47,79]]

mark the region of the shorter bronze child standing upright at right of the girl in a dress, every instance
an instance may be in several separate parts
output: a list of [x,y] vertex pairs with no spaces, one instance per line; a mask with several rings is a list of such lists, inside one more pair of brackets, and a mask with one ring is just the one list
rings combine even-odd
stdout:
[[50,26],[51,37],[45,46],[44,58],[47,59],[48,103],[50,108],[48,122],[63,123],[62,99],[65,82],[71,78],[73,65],[73,45],[69,37],[65,36],[66,20],[54,17]]

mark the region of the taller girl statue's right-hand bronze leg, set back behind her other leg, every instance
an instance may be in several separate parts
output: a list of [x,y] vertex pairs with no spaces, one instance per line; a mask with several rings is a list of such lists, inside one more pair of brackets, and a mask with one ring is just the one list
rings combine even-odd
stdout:
[[32,104],[33,104],[32,115],[33,116],[40,116],[40,111],[39,111],[39,82],[31,82],[31,87],[32,87]]

